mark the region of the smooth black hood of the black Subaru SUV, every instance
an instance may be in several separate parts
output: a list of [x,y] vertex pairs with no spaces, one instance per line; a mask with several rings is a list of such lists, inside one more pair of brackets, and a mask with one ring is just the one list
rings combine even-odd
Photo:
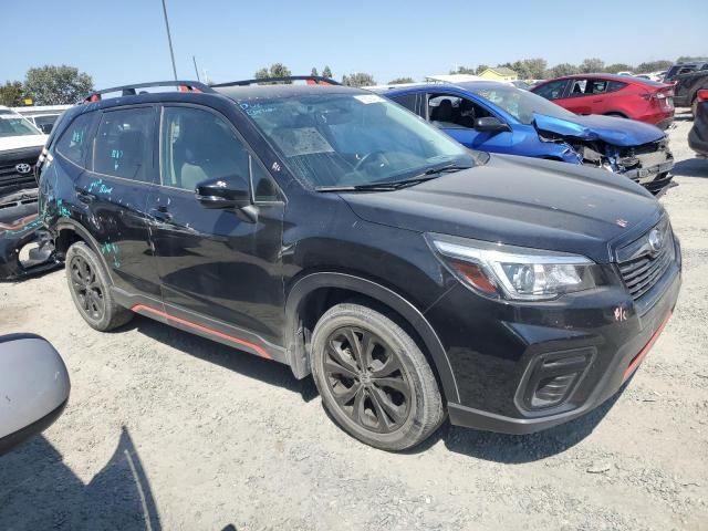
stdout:
[[658,221],[632,180],[595,168],[509,155],[396,191],[341,197],[364,220],[610,261],[608,244]]

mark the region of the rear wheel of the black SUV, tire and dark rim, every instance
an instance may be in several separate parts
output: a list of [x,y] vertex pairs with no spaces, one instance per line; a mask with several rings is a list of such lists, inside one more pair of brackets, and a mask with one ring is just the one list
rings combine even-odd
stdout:
[[83,241],[73,243],[64,261],[69,292],[76,310],[92,329],[107,332],[124,325],[134,313],[113,300],[111,282],[101,260]]

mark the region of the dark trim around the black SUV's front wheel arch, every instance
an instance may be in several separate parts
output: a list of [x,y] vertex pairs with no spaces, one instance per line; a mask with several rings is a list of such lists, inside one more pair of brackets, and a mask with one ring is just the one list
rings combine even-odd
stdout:
[[[459,402],[452,367],[435,330],[425,315],[397,292],[373,280],[342,272],[314,272],[299,279],[285,302],[285,345],[288,361],[298,378],[310,374],[309,336],[314,315],[319,319],[327,308],[354,296],[364,296],[395,312],[417,334],[433,362],[444,396]],[[330,298],[327,300],[327,298]],[[324,309],[322,312],[317,310]],[[310,313],[310,314],[309,314]],[[319,315],[316,315],[319,313]],[[316,322],[316,319],[314,322]],[[309,323],[310,321],[310,323]]]

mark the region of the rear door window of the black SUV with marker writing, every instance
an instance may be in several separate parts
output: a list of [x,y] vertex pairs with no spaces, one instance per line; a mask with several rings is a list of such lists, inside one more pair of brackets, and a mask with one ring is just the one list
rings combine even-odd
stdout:
[[94,144],[93,170],[113,177],[153,183],[154,133],[153,107],[103,113]]

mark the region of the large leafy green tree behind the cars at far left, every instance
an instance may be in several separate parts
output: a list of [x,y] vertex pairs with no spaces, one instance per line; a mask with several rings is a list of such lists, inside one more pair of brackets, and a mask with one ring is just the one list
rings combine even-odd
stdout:
[[93,80],[79,69],[62,64],[44,65],[27,71],[24,95],[35,105],[65,105],[76,103],[93,91]]

